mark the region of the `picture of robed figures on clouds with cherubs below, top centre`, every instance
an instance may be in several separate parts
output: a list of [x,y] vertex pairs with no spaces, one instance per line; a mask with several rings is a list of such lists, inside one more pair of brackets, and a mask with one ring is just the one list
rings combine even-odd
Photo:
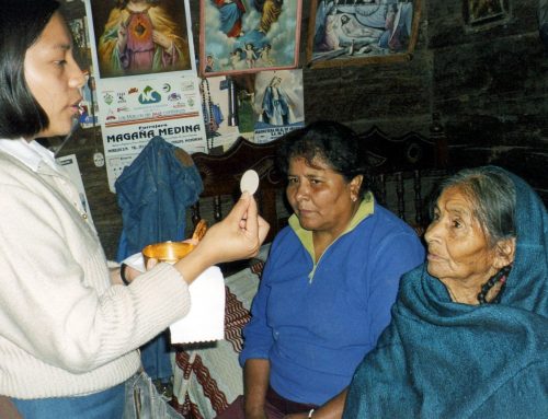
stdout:
[[201,0],[203,77],[293,69],[301,0]]

